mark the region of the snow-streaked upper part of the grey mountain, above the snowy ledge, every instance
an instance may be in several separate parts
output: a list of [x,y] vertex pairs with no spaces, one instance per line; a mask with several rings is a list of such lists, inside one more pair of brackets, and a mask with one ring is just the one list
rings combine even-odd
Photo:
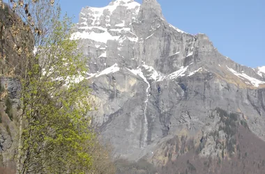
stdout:
[[144,0],[142,5],[116,0],[103,8],[82,8],[73,38],[90,40],[90,74],[117,63],[132,69],[149,66],[163,79],[172,73],[177,78],[209,71],[224,79],[228,75],[242,87],[264,86],[261,70],[222,56],[207,35],[190,35],[169,24],[156,0]]

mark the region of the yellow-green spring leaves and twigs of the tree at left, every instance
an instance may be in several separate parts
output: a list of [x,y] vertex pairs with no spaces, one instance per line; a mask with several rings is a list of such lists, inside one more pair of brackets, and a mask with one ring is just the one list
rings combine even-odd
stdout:
[[[49,23],[48,35],[35,41],[36,54],[29,56],[22,74],[24,125],[18,160],[20,173],[114,173],[95,162],[108,154],[98,148],[96,134],[87,116],[91,110],[90,89],[77,41],[70,40],[70,19],[59,20],[59,11]],[[39,39],[39,38],[37,38]],[[99,150],[100,149],[100,150]],[[102,168],[105,168],[104,165]],[[110,164],[109,164],[110,166]]]

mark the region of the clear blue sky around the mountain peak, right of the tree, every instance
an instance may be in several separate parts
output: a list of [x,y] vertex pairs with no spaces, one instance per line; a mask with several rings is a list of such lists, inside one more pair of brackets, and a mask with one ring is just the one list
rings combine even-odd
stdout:
[[[75,15],[82,7],[103,7],[111,0],[61,0]],[[142,0],[135,0],[142,3]],[[265,0],[158,0],[167,22],[192,34],[206,33],[218,51],[252,68],[265,65]]]

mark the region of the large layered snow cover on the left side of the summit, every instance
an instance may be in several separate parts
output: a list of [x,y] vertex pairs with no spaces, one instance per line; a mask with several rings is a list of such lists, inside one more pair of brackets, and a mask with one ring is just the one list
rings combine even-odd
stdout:
[[[107,43],[107,40],[119,40],[121,33],[130,32],[130,19],[116,19],[117,23],[113,24],[114,10],[119,6],[126,8],[126,12],[130,13],[133,18],[139,13],[140,4],[133,0],[116,0],[109,3],[108,6],[102,8],[86,7],[82,8],[79,15],[79,23],[76,25],[76,31],[71,39],[89,39],[96,42]],[[132,19],[131,19],[132,20]],[[112,22],[111,22],[112,21]],[[130,23],[128,25],[128,23]],[[128,38],[135,42],[135,38]]]

